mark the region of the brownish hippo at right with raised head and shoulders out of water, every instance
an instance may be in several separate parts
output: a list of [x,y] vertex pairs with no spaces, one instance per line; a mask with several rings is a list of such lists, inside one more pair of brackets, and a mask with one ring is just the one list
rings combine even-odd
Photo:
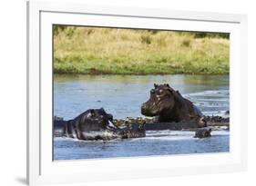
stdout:
[[154,116],[155,122],[195,121],[198,127],[207,125],[200,109],[171,88],[169,83],[154,83],[148,101],[141,105],[141,113]]

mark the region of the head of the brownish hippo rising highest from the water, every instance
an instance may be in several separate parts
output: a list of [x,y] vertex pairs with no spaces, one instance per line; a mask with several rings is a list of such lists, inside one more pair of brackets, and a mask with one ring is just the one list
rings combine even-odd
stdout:
[[168,83],[156,84],[150,91],[148,102],[141,105],[141,113],[146,116],[157,116],[165,111],[171,111],[175,106],[175,97],[178,96]]

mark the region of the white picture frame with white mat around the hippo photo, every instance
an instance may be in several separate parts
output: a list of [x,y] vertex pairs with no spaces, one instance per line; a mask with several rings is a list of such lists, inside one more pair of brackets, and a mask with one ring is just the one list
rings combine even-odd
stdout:
[[[230,152],[53,162],[52,24],[230,33]],[[27,183],[37,185],[245,171],[246,69],[246,15],[27,2]],[[246,99],[242,99],[244,97]]]

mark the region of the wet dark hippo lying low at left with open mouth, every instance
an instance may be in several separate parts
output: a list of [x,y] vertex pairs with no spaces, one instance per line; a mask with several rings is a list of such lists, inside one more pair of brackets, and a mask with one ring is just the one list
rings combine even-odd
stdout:
[[146,135],[144,127],[119,128],[113,123],[113,115],[103,108],[89,109],[73,120],[55,121],[55,134],[79,140],[112,140]]

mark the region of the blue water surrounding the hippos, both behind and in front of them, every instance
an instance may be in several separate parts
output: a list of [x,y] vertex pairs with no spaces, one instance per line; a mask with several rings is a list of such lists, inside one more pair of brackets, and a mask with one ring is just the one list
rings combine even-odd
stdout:
[[[206,115],[229,110],[228,75],[57,75],[54,114],[65,120],[91,108],[103,107],[114,118],[138,117],[153,83],[169,83]],[[229,152],[229,132],[212,132],[194,139],[194,132],[147,132],[146,138],[85,142],[55,138],[54,159],[75,160],[200,152]]]

